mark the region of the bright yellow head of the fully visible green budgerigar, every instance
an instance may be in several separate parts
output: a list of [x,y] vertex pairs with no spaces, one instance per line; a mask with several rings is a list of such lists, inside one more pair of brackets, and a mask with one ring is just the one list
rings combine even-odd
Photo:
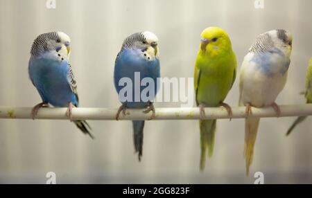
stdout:
[[232,50],[232,44],[225,30],[218,27],[209,27],[202,31],[200,51],[214,57]]

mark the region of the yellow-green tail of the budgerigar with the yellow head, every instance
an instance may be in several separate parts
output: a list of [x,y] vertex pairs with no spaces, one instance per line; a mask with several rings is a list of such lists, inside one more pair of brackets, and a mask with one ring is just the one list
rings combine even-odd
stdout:
[[200,171],[205,169],[206,151],[209,158],[214,152],[216,120],[200,120]]

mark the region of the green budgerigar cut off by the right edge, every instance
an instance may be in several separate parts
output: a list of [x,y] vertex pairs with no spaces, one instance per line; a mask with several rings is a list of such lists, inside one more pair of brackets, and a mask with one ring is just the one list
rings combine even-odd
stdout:
[[[304,97],[306,98],[306,103],[312,103],[312,58],[310,59],[308,69],[306,71],[306,90],[304,91]],[[288,129],[286,135],[291,134],[295,126],[302,123],[306,119],[306,116],[299,116],[293,125]]]

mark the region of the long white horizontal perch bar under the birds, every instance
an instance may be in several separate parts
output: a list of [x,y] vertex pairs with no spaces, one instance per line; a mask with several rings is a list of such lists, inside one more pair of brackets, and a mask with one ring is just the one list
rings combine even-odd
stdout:
[[[312,104],[280,105],[281,117],[312,115]],[[31,107],[0,107],[1,119],[32,119]],[[67,108],[44,107],[38,111],[35,119],[68,120]],[[120,120],[147,120],[152,113],[144,114],[144,109],[127,109],[126,115],[120,114]],[[154,120],[198,120],[198,107],[156,108]],[[232,118],[245,118],[245,107],[232,107]],[[115,120],[117,109],[107,108],[73,108],[73,120]],[[205,108],[206,119],[229,118],[223,107]],[[272,107],[252,108],[250,117],[276,117]]]

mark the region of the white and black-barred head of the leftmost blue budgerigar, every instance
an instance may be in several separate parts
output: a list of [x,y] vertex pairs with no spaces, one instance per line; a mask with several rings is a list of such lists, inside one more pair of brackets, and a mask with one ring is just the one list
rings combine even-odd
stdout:
[[71,39],[62,32],[51,32],[39,35],[33,42],[32,55],[41,55],[46,51],[56,51],[62,57],[69,57]]

